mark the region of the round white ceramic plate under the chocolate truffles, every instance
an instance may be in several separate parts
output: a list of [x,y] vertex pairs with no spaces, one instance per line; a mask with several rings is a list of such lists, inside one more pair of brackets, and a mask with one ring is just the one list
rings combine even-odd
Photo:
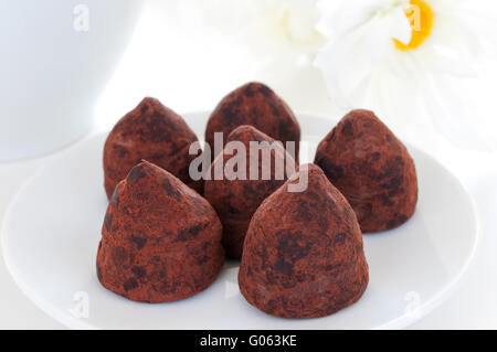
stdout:
[[[300,114],[302,161],[334,121]],[[186,119],[203,136],[207,114]],[[103,186],[105,136],[74,147],[40,171],[7,213],[2,247],[18,285],[41,309],[76,329],[381,329],[402,328],[448,296],[477,243],[470,198],[440,163],[410,148],[420,201],[400,228],[364,236],[370,284],[360,301],[330,317],[286,320],[250,306],[237,288],[237,264],[228,263],[205,291],[173,303],[126,300],[104,289],[95,257],[107,200]],[[307,150],[306,150],[307,149]]]

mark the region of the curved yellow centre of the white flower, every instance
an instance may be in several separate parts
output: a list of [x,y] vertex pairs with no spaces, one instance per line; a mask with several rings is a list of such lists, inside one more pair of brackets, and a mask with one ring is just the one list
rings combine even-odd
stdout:
[[433,11],[423,0],[411,0],[411,6],[405,10],[411,28],[412,38],[409,44],[394,39],[395,47],[401,51],[410,51],[419,47],[432,33]]

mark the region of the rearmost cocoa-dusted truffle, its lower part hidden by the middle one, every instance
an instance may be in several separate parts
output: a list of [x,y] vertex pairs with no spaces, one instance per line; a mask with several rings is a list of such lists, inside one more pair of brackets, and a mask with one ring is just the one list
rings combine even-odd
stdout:
[[294,141],[295,152],[288,151],[298,160],[300,127],[288,105],[266,85],[247,83],[225,96],[209,118],[205,141],[214,150],[214,132],[223,132],[226,139],[242,125],[254,126],[285,148],[287,141]]

